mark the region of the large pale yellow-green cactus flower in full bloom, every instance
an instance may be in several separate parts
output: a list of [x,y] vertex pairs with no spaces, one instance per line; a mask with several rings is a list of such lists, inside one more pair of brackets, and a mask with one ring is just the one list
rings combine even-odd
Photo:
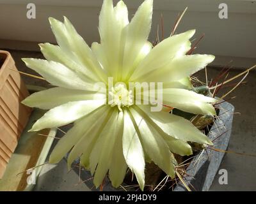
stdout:
[[[215,99],[189,91],[188,78],[214,60],[212,55],[186,55],[195,30],[175,34],[156,47],[148,41],[153,1],[145,0],[129,22],[127,6],[104,0],[99,15],[100,43],[89,47],[65,18],[49,18],[58,45],[40,44],[43,59],[22,59],[55,87],[32,94],[22,103],[49,110],[30,131],[74,122],[51,153],[50,163],[66,154],[68,166],[80,158],[96,187],[108,174],[114,187],[122,184],[127,168],[145,186],[145,163],[154,162],[175,177],[173,153],[192,154],[188,142],[211,145],[211,140],[182,117],[164,110],[152,112],[147,97],[113,82],[161,82],[163,103],[189,113],[215,115]],[[97,86],[95,86],[97,84]],[[156,88],[156,91],[159,91]],[[150,96],[145,92],[143,96]],[[148,99],[149,100],[149,99]]]

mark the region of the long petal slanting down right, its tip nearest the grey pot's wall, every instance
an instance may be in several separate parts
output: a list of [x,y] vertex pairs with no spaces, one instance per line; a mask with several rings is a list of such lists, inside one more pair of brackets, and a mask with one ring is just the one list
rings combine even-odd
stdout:
[[189,120],[168,112],[151,112],[150,106],[138,105],[138,107],[167,135],[185,142],[212,145],[211,140],[196,129]]

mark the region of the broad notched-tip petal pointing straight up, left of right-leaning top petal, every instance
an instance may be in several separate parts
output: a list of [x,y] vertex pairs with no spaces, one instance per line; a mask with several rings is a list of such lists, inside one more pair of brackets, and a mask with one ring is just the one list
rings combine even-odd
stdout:
[[[104,61],[102,66],[108,72],[109,77],[119,77],[118,69],[121,67],[124,50],[123,29],[129,24],[127,7],[123,1],[119,1],[113,7],[112,0],[105,0],[99,16],[100,44],[97,47],[99,61]],[[103,58],[103,59],[102,59]]]

